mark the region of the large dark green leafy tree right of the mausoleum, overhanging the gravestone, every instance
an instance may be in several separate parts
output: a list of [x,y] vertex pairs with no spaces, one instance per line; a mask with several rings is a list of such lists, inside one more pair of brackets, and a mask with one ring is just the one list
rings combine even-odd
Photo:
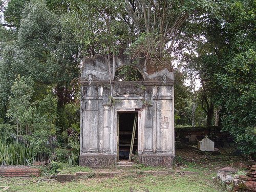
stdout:
[[244,154],[253,155],[256,153],[255,2],[230,1],[229,5],[221,10],[221,18],[210,16],[209,22],[200,26],[199,37],[204,38],[194,38],[198,55],[190,54],[193,58],[187,60],[188,69],[200,76],[204,100],[221,109],[223,130],[235,138]]

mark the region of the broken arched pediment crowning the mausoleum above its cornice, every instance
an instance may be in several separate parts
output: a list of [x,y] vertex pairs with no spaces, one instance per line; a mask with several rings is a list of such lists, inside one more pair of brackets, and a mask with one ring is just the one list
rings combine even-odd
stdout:
[[[169,71],[167,68],[159,69],[158,71],[153,71],[152,73],[147,73],[147,67],[145,64],[145,60],[131,60],[127,57],[115,57],[114,60],[111,58],[110,60],[110,70],[108,68],[108,63],[106,59],[100,55],[96,55],[91,58],[84,58],[81,68],[81,82],[109,82],[110,74],[115,77],[118,77],[120,73],[118,71],[120,69],[130,68],[131,72],[138,72],[138,78],[132,78],[129,81],[150,81],[150,82],[173,82],[174,80],[174,72]],[[113,69],[114,67],[114,69]],[[115,73],[114,73],[114,72]],[[128,72],[129,75],[130,72]],[[113,79],[113,77],[112,77]],[[119,78],[116,78],[115,81],[118,81]]]

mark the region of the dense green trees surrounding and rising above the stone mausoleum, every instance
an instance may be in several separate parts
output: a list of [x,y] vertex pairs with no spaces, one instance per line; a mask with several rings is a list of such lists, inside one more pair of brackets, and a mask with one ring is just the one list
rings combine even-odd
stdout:
[[[252,156],[255,8],[253,0],[0,1],[1,140],[36,155],[72,148],[77,163],[81,60],[103,56],[112,82],[110,60],[126,55],[175,68],[176,126],[221,125]],[[134,73],[116,76],[141,78]]]

